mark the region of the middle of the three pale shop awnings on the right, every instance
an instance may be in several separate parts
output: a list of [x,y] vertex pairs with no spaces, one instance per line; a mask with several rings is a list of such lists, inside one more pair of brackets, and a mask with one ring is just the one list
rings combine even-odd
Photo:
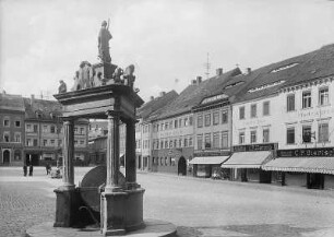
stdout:
[[271,157],[270,151],[237,152],[222,165],[222,168],[260,168]]

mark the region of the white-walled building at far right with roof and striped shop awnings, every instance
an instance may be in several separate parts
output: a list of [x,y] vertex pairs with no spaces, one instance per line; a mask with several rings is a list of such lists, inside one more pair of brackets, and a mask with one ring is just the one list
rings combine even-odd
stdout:
[[246,75],[251,83],[232,105],[234,154],[222,167],[242,181],[312,188],[325,176],[333,186],[333,60],[332,45]]

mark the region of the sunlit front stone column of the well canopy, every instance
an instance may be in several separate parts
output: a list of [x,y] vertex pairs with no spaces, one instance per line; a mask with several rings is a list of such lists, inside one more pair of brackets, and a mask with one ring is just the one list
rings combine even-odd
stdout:
[[119,190],[119,112],[108,111],[107,180],[105,192]]

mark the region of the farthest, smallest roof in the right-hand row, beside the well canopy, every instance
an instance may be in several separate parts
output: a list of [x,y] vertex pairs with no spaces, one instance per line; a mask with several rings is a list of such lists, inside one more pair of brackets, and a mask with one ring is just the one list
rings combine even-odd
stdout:
[[157,112],[162,108],[164,108],[167,104],[171,103],[174,99],[178,97],[178,93],[176,91],[170,91],[165,95],[154,98],[145,103],[142,107],[136,110],[136,115],[139,118],[147,119],[153,112]]

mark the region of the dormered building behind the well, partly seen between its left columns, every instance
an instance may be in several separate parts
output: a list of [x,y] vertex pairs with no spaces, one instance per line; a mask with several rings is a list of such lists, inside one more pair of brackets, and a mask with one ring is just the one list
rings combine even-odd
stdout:
[[[63,130],[61,106],[58,102],[24,98],[25,149],[24,164],[61,165]],[[86,163],[88,145],[88,121],[74,123],[74,163]]]

